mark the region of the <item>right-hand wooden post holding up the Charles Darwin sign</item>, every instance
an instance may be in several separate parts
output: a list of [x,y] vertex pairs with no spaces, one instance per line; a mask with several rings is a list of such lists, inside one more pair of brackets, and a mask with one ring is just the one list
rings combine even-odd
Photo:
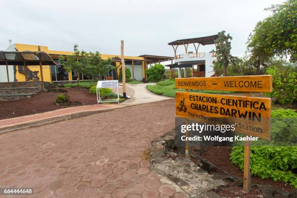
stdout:
[[[246,93],[247,96],[251,96],[250,93]],[[245,141],[245,154],[244,154],[244,191],[248,193],[251,190],[251,175],[250,175],[250,141]]]

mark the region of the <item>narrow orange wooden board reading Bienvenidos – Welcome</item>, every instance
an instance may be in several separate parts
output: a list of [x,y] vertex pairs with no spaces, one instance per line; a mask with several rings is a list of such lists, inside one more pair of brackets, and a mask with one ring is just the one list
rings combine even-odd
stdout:
[[271,75],[176,78],[176,89],[271,92]]

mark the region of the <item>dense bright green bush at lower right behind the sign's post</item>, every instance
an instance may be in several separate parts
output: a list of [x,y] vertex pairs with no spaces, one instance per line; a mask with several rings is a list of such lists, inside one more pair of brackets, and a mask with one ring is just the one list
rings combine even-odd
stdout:
[[[272,110],[272,117],[287,118],[297,117],[294,109],[276,109]],[[289,127],[289,126],[288,126]],[[277,133],[281,135],[278,123],[272,125],[272,135]],[[292,130],[289,129],[288,130]],[[296,130],[296,127],[293,128]],[[296,131],[286,131],[288,136]],[[244,147],[234,146],[231,150],[230,160],[237,164],[241,170],[244,168]],[[297,147],[296,146],[251,146],[250,171],[252,175],[259,176],[262,179],[272,178],[281,180],[297,188]]]

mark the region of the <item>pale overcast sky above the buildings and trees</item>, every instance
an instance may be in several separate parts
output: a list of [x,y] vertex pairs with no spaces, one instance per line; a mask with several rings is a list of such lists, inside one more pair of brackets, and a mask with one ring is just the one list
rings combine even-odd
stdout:
[[[168,42],[217,34],[233,37],[232,55],[246,51],[249,33],[282,0],[4,0],[1,1],[0,50],[12,43],[72,51],[125,55],[173,55]],[[209,52],[213,45],[199,47]],[[191,45],[188,51],[195,51]],[[184,54],[184,48],[178,48]]]

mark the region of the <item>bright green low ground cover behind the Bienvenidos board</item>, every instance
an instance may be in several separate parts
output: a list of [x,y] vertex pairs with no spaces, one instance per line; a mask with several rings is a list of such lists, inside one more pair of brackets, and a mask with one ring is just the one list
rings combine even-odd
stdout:
[[[168,79],[156,83],[156,85],[148,85],[147,89],[157,95],[164,95],[167,97],[175,98],[176,91],[185,91],[184,89],[175,89],[175,80]],[[212,94],[226,94],[234,93],[235,91],[218,91],[218,90],[190,90],[194,93],[212,93]]]

